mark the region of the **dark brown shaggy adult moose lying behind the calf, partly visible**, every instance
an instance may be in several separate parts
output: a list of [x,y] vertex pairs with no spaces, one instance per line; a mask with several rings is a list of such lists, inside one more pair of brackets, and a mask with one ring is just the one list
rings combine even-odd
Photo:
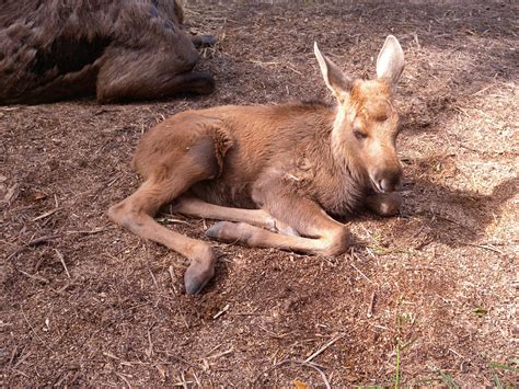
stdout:
[[[174,0],[0,0],[0,104],[209,93]],[[195,43],[210,43],[198,36]]]

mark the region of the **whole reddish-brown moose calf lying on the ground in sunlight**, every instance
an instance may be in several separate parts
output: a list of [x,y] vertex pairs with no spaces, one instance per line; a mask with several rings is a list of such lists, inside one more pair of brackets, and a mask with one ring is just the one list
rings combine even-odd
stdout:
[[216,255],[206,242],[153,219],[173,201],[181,214],[230,220],[209,228],[210,238],[326,255],[349,244],[347,227],[328,214],[343,216],[361,205],[380,215],[399,211],[402,169],[392,90],[404,67],[402,47],[388,36],[377,79],[369,81],[349,79],[316,44],[314,50],[336,107],[187,111],[155,126],[138,146],[134,164],[145,182],[108,217],[187,256],[188,294],[212,277]]

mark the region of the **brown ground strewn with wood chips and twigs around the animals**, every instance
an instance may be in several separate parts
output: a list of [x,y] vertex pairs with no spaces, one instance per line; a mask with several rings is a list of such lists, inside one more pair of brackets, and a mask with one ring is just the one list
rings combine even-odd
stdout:
[[[218,36],[208,96],[0,107],[0,385],[505,387],[518,384],[517,2],[188,2]],[[129,162],[185,108],[332,102],[312,45],[372,77],[388,34],[404,206],[360,214],[341,256],[215,243],[217,275],[111,225]],[[206,239],[211,220],[161,215]]]

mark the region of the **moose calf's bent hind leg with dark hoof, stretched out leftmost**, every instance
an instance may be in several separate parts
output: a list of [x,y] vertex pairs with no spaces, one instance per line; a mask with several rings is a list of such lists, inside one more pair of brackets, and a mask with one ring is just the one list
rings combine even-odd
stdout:
[[109,208],[108,217],[137,236],[164,244],[189,259],[184,283],[187,294],[196,294],[215,274],[212,248],[161,226],[153,216],[162,205],[182,195],[194,183],[215,176],[218,164],[212,139],[199,139],[183,155],[173,152],[168,161],[174,165],[159,163],[134,194]]

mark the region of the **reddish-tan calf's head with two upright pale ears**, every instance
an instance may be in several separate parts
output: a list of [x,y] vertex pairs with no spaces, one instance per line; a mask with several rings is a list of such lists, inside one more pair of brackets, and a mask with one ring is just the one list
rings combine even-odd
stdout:
[[376,192],[397,191],[402,168],[396,155],[399,114],[392,91],[404,69],[399,41],[392,35],[385,39],[373,80],[353,80],[322,55],[316,44],[314,52],[324,81],[338,102],[332,131],[335,158]]

